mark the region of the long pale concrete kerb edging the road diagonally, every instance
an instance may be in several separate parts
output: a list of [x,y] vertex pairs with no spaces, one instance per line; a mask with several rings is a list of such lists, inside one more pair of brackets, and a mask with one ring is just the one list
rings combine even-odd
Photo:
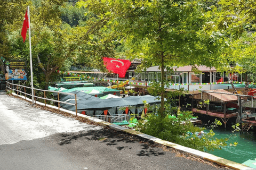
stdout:
[[[12,93],[12,95],[13,96],[18,96],[15,93]],[[19,97],[25,99],[24,96],[19,96]],[[27,98],[26,100],[32,101],[29,98]],[[41,105],[41,106],[45,106],[44,103],[40,103],[39,101],[36,101],[36,104]],[[47,104],[46,104],[46,106],[59,110],[59,108],[56,107],[56,106],[51,106],[51,105],[47,105]],[[73,111],[68,111],[68,110],[63,109],[63,108],[60,108],[60,111],[68,113],[68,114],[73,115],[73,116],[76,116],[76,113],[73,112]],[[116,125],[116,124],[113,124],[113,123],[102,121],[102,120],[100,120],[98,118],[95,118],[95,117],[91,117],[91,116],[87,116],[87,115],[83,115],[83,114],[79,114],[79,113],[77,113],[77,117],[84,118],[85,120],[91,121],[91,122],[96,123],[100,126],[108,126],[110,129],[113,129],[113,130],[116,130],[116,131],[121,131],[121,132],[129,133],[129,134],[132,134],[132,135],[137,135],[141,138],[145,138],[145,139],[148,139],[148,140],[153,141],[155,143],[158,143],[158,144],[161,144],[161,145],[173,148],[173,149],[177,149],[177,150],[186,152],[186,153],[188,153],[190,155],[193,155],[195,157],[199,157],[199,158],[202,158],[202,159],[205,159],[205,160],[209,160],[210,162],[217,163],[217,164],[222,165],[222,166],[226,166],[226,167],[233,168],[233,169],[236,169],[236,170],[255,170],[255,168],[251,168],[249,166],[239,164],[239,163],[233,162],[231,160],[227,160],[227,159],[224,159],[224,158],[212,155],[212,154],[208,154],[206,152],[199,151],[199,150],[196,150],[196,149],[191,149],[191,148],[188,148],[188,147],[184,147],[184,146],[178,145],[176,143],[165,141],[165,140],[150,136],[148,134],[144,134],[144,133],[132,130],[132,129],[124,128],[122,126],[119,126],[119,125]]]

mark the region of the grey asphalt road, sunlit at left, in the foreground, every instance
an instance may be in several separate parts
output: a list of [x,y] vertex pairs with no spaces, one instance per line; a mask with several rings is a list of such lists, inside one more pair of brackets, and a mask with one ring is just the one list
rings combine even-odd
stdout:
[[0,93],[0,169],[223,169]]

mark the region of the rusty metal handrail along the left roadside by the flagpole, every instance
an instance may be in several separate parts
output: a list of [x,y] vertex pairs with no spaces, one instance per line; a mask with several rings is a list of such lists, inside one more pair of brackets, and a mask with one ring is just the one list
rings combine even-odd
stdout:
[[[14,86],[16,86],[17,89],[15,89]],[[25,94],[25,100],[27,100],[26,95],[32,96],[31,94],[26,93],[26,88],[32,89],[31,87],[27,87],[27,86],[22,86],[22,85],[19,85],[19,84],[10,83],[9,81],[6,81],[6,87],[7,87],[8,89],[10,89],[10,90],[17,91],[17,95],[18,95],[18,96],[19,96],[19,92],[20,92],[20,94]],[[12,87],[12,88],[11,88],[11,87]],[[24,88],[24,92],[21,91],[21,90],[18,90],[18,87],[23,87],[23,88]],[[20,89],[21,89],[21,88],[20,88]],[[68,104],[68,105],[72,105],[72,106],[76,106],[76,117],[77,117],[77,96],[76,96],[76,94],[72,94],[72,93],[69,93],[69,92],[61,92],[61,91],[52,91],[52,90],[36,89],[36,88],[33,88],[33,89],[34,89],[34,93],[35,93],[35,90],[43,91],[43,92],[44,92],[44,97],[36,96],[36,93],[34,94],[34,97],[35,97],[35,104],[36,104],[36,98],[38,98],[38,99],[44,99],[45,107],[47,107],[47,106],[46,106],[46,100],[57,102],[57,103],[58,103],[58,109],[59,109],[59,111],[60,111],[60,103]],[[57,93],[57,94],[58,94],[58,100],[46,98],[45,92],[54,92],[54,93]],[[60,94],[74,95],[74,96],[75,96],[75,104],[73,104],[73,103],[67,103],[67,102],[65,102],[65,101],[60,101],[60,98],[59,98],[59,95],[60,95]]]

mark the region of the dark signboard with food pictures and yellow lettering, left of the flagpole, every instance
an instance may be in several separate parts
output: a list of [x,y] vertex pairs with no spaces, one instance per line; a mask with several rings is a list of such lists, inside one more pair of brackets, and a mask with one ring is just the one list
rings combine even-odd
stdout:
[[26,61],[5,61],[5,80],[27,80]]

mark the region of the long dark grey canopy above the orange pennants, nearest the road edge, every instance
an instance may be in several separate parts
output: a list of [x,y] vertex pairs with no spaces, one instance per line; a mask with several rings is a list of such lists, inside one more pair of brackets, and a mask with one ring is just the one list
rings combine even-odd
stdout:
[[[109,98],[109,99],[90,99],[90,100],[81,100],[77,101],[77,109],[78,110],[105,110],[113,107],[125,107],[125,106],[142,106],[143,100],[150,105],[161,103],[160,99],[154,96],[131,96],[126,98]],[[70,100],[69,103],[75,104],[75,100]],[[61,106],[70,111],[75,111],[75,106],[68,104],[61,104]]]

